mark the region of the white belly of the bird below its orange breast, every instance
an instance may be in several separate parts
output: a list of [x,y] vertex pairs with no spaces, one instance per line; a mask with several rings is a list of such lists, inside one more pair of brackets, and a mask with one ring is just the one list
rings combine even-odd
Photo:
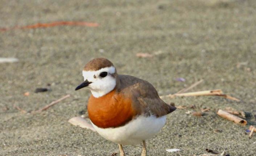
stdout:
[[166,115],[158,118],[151,115],[150,117],[137,117],[126,125],[117,128],[99,128],[93,123],[92,125],[101,136],[111,142],[133,145],[152,138],[164,127],[165,121]]

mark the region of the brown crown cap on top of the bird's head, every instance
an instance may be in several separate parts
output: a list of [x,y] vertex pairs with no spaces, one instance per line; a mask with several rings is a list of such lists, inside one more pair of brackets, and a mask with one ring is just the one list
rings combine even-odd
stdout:
[[110,60],[105,58],[96,58],[88,62],[83,70],[84,71],[98,71],[101,68],[111,67],[114,66]]

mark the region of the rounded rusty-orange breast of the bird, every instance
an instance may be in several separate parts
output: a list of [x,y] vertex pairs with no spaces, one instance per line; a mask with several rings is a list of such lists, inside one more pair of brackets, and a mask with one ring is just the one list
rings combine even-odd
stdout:
[[131,98],[116,90],[99,98],[91,95],[87,110],[92,123],[100,128],[123,126],[136,115]]

